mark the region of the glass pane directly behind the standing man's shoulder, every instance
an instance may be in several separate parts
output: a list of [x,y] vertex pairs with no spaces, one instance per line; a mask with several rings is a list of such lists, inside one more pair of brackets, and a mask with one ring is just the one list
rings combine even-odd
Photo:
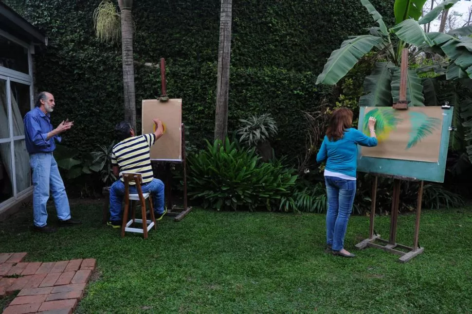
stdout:
[[23,118],[30,111],[30,87],[21,83],[10,81],[12,114],[13,114],[13,135],[24,135]]

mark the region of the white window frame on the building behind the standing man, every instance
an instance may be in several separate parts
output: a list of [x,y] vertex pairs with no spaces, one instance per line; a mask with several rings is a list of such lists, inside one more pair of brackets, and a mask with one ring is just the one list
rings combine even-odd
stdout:
[[[6,33],[5,31],[0,30],[0,36],[3,36],[7,38],[8,40],[11,40],[18,45],[23,46],[24,48],[27,49],[28,51],[28,73],[23,73],[19,72],[16,70],[12,70],[9,68],[5,68],[0,66],[0,79],[6,81],[6,91],[7,91],[7,105],[8,105],[8,128],[10,132],[10,136],[8,139],[0,139],[0,143],[10,143],[10,153],[11,153],[11,160],[12,160],[12,173],[16,174],[16,169],[15,169],[15,141],[16,140],[24,140],[25,136],[14,136],[13,135],[13,113],[12,113],[12,104],[11,104],[11,93],[9,92],[11,90],[10,87],[10,82],[16,82],[24,85],[28,85],[30,89],[30,109],[34,108],[34,86],[33,86],[33,57],[32,54],[35,51],[35,48],[32,44],[28,44],[18,38],[16,38],[13,35],[10,35]],[[19,199],[22,199],[26,196],[26,194],[29,194],[33,191],[33,186],[30,186],[29,188],[23,190],[23,191],[17,191],[17,179],[16,177],[11,178],[12,180],[12,186],[13,186],[13,196],[10,197],[9,199],[3,201],[0,203],[0,212],[1,209],[7,208],[11,206],[13,203],[18,201]]]

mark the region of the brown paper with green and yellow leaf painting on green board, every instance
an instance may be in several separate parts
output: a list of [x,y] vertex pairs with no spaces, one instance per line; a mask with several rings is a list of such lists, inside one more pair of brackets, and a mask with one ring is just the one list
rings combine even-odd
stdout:
[[443,114],[440,106],[365,107],[362,130],[369,135],[367,122],[377,120],[376,147],[362,147],[361,156],[437,162],[441,144]]

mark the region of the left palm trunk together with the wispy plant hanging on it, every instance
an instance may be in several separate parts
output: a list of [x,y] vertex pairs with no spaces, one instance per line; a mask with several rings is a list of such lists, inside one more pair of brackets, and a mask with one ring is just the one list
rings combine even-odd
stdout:
[[[110,0],[103,0],[93,14],[96,35],[103,41],[118,42],[121,33],[123,62],[123,92],[125,96],[125,119],[136,130],[136,95],[133,64],[133,0],[118,0],[120,12],[116,12]],[[121,27],[120,27],[121,24]]]

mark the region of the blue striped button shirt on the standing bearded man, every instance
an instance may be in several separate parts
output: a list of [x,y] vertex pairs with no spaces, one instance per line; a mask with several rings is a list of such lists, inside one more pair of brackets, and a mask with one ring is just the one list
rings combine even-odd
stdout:
[[39,107],[29,111],[23,122],[25,125],[26,150],[30,154],[51,153],[56,147],[54,140],[58,142],[62,140],[57,135],[46,140],[48,133],[53,130],[53,125],[51,124],[50,114],[45,114]]

